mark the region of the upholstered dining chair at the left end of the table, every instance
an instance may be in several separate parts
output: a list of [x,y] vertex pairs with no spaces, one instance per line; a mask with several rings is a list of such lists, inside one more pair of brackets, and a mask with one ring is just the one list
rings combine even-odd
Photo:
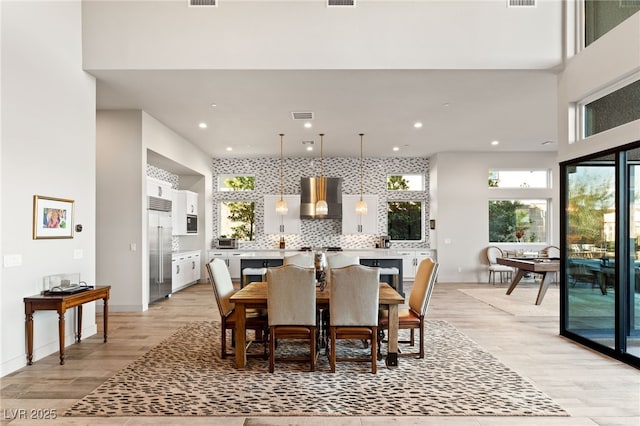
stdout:
[[[235,345],[235,326],[237,312],[235,310],[235,304],[229,301],[229,298],[236,292],[233,288],[233,281],[229,274],[227,264],[222,259],[213,259],[206,264],[207,273],[209,274],[209,281],[213,287],[213,293],[216,297],[216,303],[218,305],[218,311],[220,312],[221,321],[221,357],[233,355],[233,353],[227,352],[227,331],[231,330],[232,345]],[[262,357],[267,357],[267,332],[268,323],[267,316],[264,310],[247,309],[246,312],[246,328],[247,330],[253,330],[255,332],[256,342],[263,343],[264,353]],[[249,341],[251,344],[251,341]]]

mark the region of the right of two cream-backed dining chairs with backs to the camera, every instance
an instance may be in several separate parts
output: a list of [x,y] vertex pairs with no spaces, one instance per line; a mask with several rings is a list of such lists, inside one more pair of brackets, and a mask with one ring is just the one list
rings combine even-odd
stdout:
[[[336,362],[371,362],[371,372],[377,372],[378,302],[380,272],[378,268],[348,265],[329,270],[331,301],[329,303],[329,362],[331,372]],[[371,342],[370,357],[338,357],[338,340]]]

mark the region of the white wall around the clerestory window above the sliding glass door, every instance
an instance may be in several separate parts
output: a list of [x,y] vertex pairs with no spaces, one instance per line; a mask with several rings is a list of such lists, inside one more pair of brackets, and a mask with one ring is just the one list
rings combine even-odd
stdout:
[[[604,66],[603,64],[606,64]],[[560,162],[640,140],[640,120],[580,140],[575,104],[612,84],[640,77],[640,13],[571,58],[558,84]]]

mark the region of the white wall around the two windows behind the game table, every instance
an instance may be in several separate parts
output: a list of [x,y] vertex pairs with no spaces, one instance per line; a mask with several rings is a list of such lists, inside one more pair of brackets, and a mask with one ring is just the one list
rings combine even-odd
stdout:
[[[488,187],[488,171],[551,169],[552,188],[499,189]],[[539,198],[551,202],[551,241],[558,244],[558,166],[555,153],[444,152],[430,158],[431,181],[437,182],[431,218],[436,230],[431,248],[437,250],[439,282],[486,282],[484,249],[489,245],[489,207],[493,198]],[[505,244],[505,248],[516,248]],[[534,246],[534,249],[545,244]],[[524,246],[523,246],[524,247]],[[531,247],[531,246],[527,246]]]

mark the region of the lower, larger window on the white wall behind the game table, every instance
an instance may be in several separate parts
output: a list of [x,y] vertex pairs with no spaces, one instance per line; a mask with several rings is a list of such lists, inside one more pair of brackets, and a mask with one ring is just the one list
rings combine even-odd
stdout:
[[547,242],[548,200],[489,200],[489,242]]

